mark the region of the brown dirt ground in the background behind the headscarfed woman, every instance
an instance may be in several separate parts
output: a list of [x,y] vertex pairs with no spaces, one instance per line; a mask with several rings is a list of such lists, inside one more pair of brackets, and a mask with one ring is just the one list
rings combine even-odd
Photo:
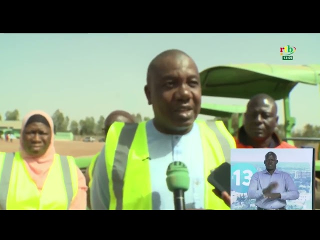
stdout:
[[[57,153],[61,155],[87,156],[94,155],[101,150],[104,142],[83,142],[83,141],[55,141],[54,146]],[[13,142],[0,140],[0,151],[13,152],[19,148],[19,140]]]

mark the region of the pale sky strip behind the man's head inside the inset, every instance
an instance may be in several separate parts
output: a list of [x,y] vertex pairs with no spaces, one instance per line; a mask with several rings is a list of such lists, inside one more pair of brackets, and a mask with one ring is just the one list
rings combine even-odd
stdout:
[[[237,148],[231,149],[231,163],[233,162],[263,162],[269,149],[265,148]],[[279,162],[313,162],[312,148],[274,148]],[[312,164],[311,164],[312,165]]]

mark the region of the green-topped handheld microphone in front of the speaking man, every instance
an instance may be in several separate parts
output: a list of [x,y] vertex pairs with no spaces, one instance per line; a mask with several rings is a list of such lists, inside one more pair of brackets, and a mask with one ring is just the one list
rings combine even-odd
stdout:
[[173,161],[166,169],[166,185],[173,192],[174,210],[185,210],[184,192],[189,188],[190,178],[186,165]]

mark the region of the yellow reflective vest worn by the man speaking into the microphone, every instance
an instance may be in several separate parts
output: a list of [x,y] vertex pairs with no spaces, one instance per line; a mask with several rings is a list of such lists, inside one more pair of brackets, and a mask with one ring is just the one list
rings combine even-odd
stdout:
[[[114,122],[108,130],[105,163],[109,179],[109,209],[151,210],[152,194],[145,121]],[[202,139],[204,176],[221,163],[230,162],[231,148],[236,148],[232,135],[222,121],[196,120]],[[205,209],[230,209],[205,182]]]

